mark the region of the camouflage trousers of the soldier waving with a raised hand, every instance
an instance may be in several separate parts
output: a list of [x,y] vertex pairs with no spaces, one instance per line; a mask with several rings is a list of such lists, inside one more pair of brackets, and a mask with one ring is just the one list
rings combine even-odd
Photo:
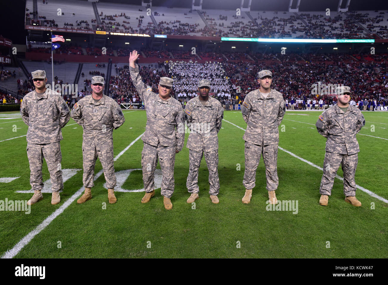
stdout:
[[149,193],[154,190],[154,172],[158,165],[162,169],[162,185],[161,194],[167,198],[171,198],[174,193],[174,165],[175,165],[175,145],[165,147],[158,142],[158,146],[154,147],[148,143],[144,143],[142,151],[142,169],[143,183],[145,192]]

